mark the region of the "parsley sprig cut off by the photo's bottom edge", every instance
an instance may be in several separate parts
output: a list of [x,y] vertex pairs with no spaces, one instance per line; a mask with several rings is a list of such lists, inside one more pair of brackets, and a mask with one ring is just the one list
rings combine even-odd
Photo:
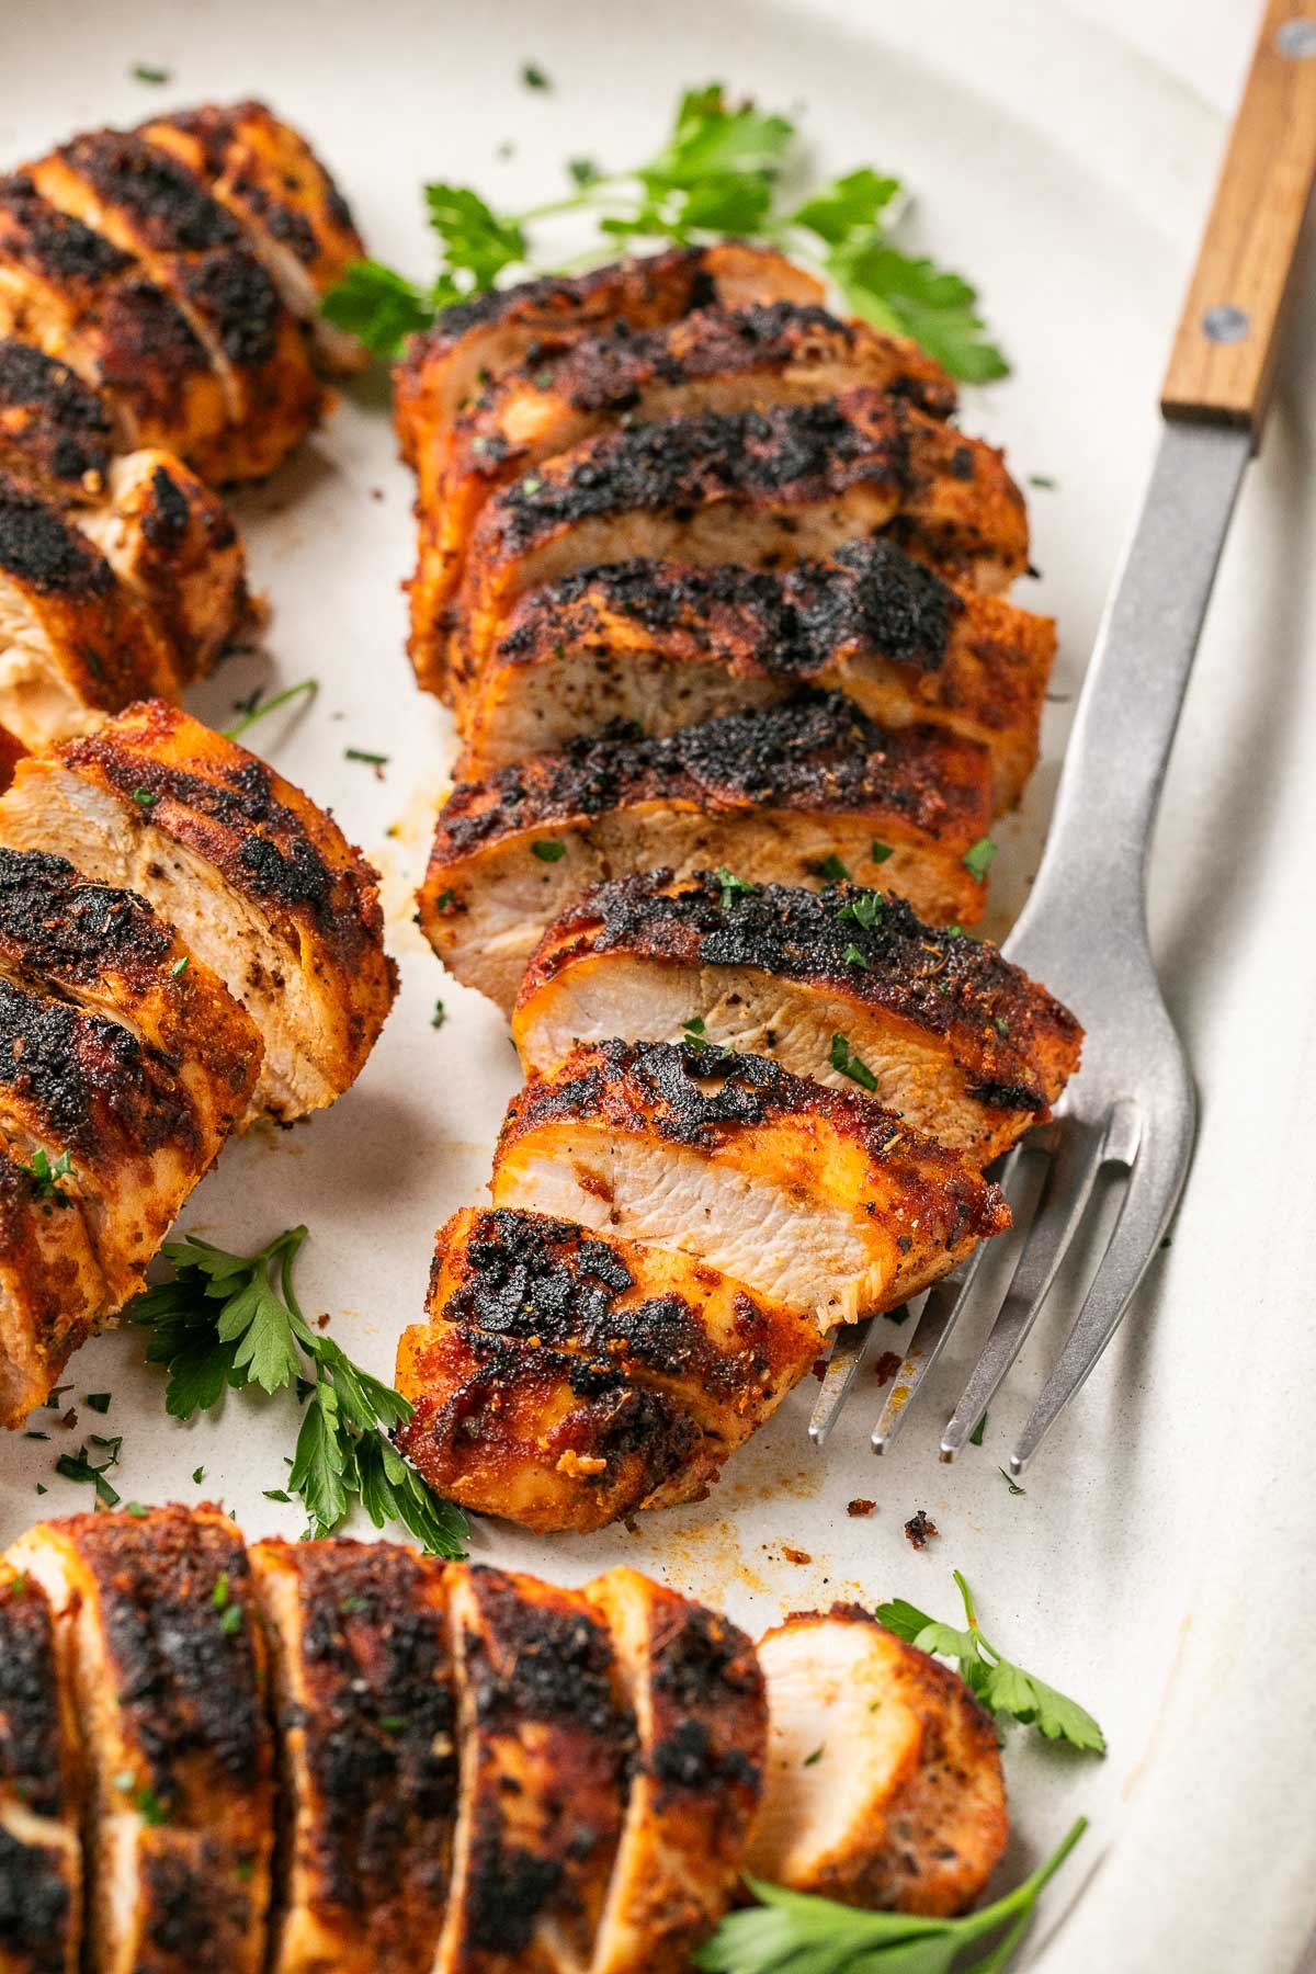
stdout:
[[[730,1913],[712,1938],[695,1952],[704,1974],[998,1974],[1022,1944],[1044,1885],[1087,1830],[1079,1816],[1046,1863],[1008,1891],[963,1919],[919,1919],[912,1913],[864,1913],[833,1899],[817,1899],[781,1885],[746,1879],[760,1901]],[[1004,1929],[1004,1931],[1002,1931]],[[961,1954],[983,1940],[996,1944],[973,1962]]]

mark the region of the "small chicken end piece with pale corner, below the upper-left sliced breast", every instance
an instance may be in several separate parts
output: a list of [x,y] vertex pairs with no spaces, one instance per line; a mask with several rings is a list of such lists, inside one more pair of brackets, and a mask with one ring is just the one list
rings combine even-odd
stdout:
[[260,624],[233,515],[172,452],[114,460],[105,505],[81,509],[77,521],[170,640],[185,685]]

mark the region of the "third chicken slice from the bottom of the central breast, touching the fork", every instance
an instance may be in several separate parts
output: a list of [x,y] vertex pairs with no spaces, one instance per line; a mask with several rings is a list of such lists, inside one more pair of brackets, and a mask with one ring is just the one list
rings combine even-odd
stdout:
[[888,1109],[985,1167],[1052,1115],[1083,1030],[994,946],[935,932],[904,898],[856,884],[726,890],[710,873],[653,871],[552,922],[511,1034],[541,1076],[614,1034],[695,1034],[835,1090],[854,1082],[858,1056]]

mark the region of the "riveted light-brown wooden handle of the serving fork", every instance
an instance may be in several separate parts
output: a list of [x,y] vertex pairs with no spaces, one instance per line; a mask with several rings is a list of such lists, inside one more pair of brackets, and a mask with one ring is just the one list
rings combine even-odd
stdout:
[[1269,0],[1160,393],[1166,418],[1261,424],[1316,180],[1316,0]]

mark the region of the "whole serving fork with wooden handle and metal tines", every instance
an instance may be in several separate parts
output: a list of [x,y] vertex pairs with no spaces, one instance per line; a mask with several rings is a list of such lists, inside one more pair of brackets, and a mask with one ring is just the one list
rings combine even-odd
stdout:
[[[1192,1163],[1198,1100],[1146,936],[1146,861],[1174,728],[1243,472],[1269,407],[1316,178],[1316,8],[1271,0],[1174,340],[1164,428],[1079,697],[1052,829],[1004,951],[1073,1007],[1083,1068],[1050,1123],[992,1175],[1016,1216],[1014,1271],[979,1246],[927,1295],[872,1447],[884,1453],[967,1311],[992,1327],[941,1435],[951,1461],[1018,1358],[1093,1194],[1117,1216],[1060,1358],[1010,1455],[1020,1475],[1125,1317]],[[1032,1206],[1032,1218],[1030,1218]],[[1103,1220],[1103,1228],[1109,1218]],[[1004,1293],[985,1293],[1002,1283]],[[876,1340],[837,1336],[809,1435],[827,1441]]]

